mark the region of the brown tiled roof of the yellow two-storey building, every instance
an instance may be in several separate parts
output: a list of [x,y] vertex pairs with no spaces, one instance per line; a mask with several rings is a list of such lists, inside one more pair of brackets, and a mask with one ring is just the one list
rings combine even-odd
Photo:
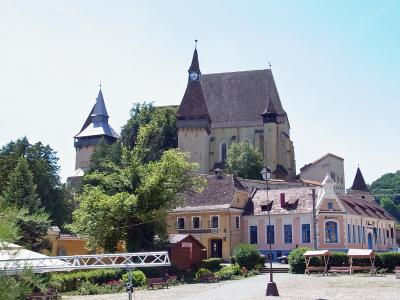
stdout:
[[[246,191],[243,185],[232,175],[224,175],[218,178],[216,175],[201,175],[206,179],[207,185],[200,193],[186,195],[183,207],[215,206],[217,208],[229,207],[236,191]],[[182,207],[181,207],[182,208]],[[177,208],[179,211],[181,208]]]

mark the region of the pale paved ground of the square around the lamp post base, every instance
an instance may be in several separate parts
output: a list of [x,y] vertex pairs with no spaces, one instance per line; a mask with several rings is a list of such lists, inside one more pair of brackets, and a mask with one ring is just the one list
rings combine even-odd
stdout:
[[[229,280],[214,284],[188,284],[169,289],[141,290],[135,300],[255,300],[274,299],[265,297],[267,275],[258,275],[242,280]],[[279,299],[399,299],[400,280],[393,274],[370,275],[293,275],[274,274],[281,297]],[[126,300],[128,295],[94,295],[63,297],[68,300]]]

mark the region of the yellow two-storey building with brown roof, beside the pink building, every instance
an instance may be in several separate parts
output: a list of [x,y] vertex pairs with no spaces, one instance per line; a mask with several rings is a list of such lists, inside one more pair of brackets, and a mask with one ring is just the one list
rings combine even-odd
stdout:
[[242,242],[241,216],[248,192],[232,175],[202,175],[207,186],[188,195],[168,214],[169,234],[191,234],[207,247],[207,257],[229,260]]

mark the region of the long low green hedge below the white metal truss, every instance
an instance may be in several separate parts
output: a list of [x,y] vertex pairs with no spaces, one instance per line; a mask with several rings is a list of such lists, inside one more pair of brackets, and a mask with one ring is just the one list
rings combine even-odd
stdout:
[[71,273],[54,273],[51,275],[50,285],[61,292],[74,291],[83,282],[103,284],[112,280],[119,280],[125,270],[99,269]]

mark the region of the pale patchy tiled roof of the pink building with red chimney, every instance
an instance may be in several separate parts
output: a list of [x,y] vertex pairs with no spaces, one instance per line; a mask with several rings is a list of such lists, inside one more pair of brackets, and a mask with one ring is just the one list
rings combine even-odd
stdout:
[[[319,188],[316,188],[318,193]],[[281,194],[285,194],[285,202],[293,204],[298,201],[296,209],[288,210],[281,207]],[[262,211],[262,206],[268,205],[270,201],[273,201],[271,214],[291,214],[291,213],[310,213],[312,212],[312,191],[310,187],[298,187],[289,188],[282,190],[270,190],[267,191],[258,190],[252,199],[252,204],[249,206],[254,207],[254,215],[266,215],[267,211]],[[250,202],[250,201],[249,201]]]

